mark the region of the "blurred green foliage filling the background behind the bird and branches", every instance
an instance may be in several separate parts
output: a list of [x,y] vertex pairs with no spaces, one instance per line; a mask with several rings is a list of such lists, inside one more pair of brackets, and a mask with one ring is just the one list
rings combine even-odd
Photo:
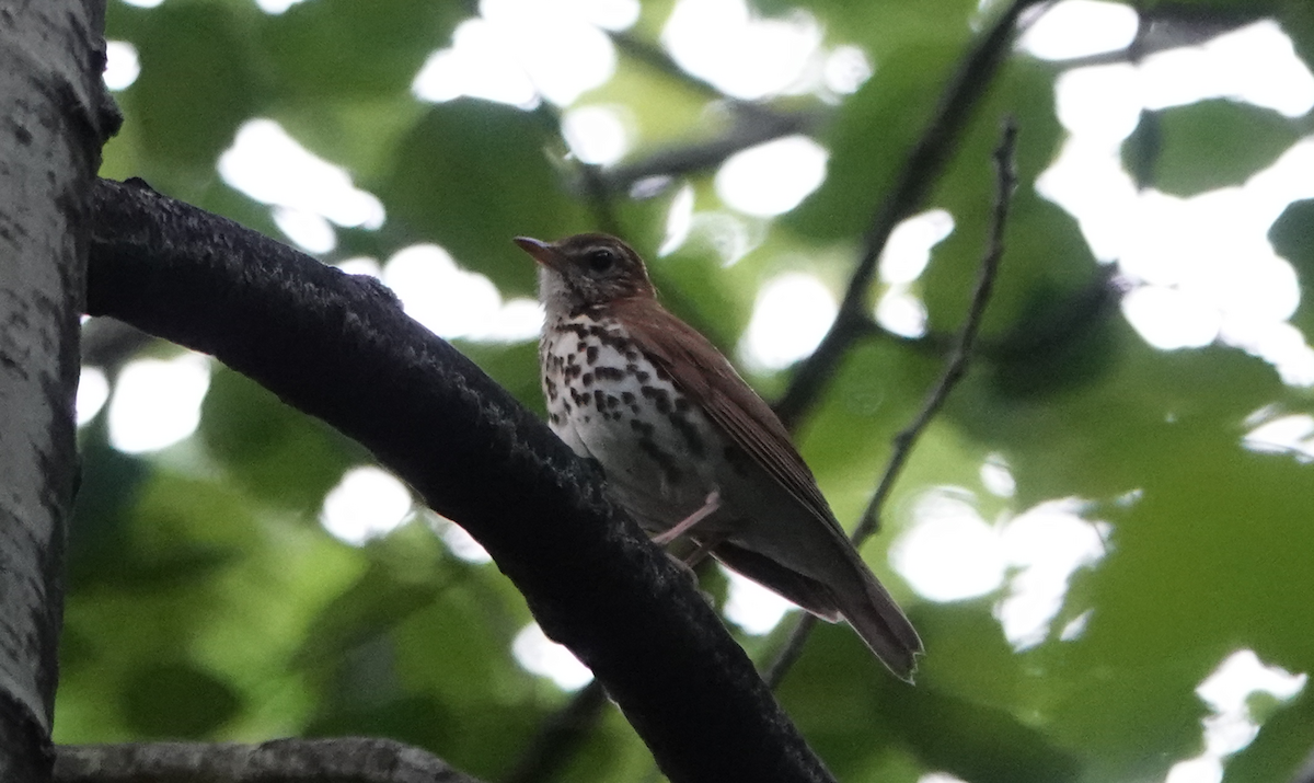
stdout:
[[[830,152],[821,187],[777,219],[736,215],[712,187],[712,168],[646,200],[610,200],[624,233],[654,257],[675,193],[690,187],[692,233],[653,264],[670,306],[732,351],[758,288],[775,275],[805,271],[842,293],[872,212],[986,24],[978,5],[1000,4],[759,0],[762,14],[813,14],[828,46],[863,47],[874,74],[849,96],[766,102],[820,117],[816,138]],[[1183,18],[1256,13],[1248,0],[1169,5]],[[673,7],[645,3],[628,34],[657,46]],[[326,261],[384,260],[413,242],[436,242],[506,297],[533,285],[510,236],[561,236],[602,222],[551,112],[411,96],[426,56],[449,43],[473,4],[307,0],[268,16],[251,0],[151,9],[109,0],[108,12],[108,37],[137,47],[142,74],[117,96],[126,121],[106,148],[104,176],[142,176],[277,235],[269,209],[215,172],[237,129],[269,117],[388,210],[378,231],[343,230]],[[1309,62],[1310,5],[1265,3],[1263,13]],[[1096,263],[1076,221],[1034,187],[1066,138],[1054,106],[1063,72],[1063,63],[1020,53],[1001,68],[925,205],[949,210],[955,225],[913,285],[932,338],[861,340],[800,428],[838,516],[855,520],[891,436],[940,373],[937,338],[962,321],[992,219],[991,150],[1001,116],[1014,116],[1021,187],[980,355],[913,453],[882,535],[865,548],[925,637],[918,684],[892,681],[848,629],[824,627],[781,690],[848,782],[912,782],[937,770],[972,783],[1162,780],[1202,750],[1209,707],[1194,688],[1231,652],[1314,670],[1314,468],[1298,453],[1242,443],[1256,411],[1314,413],[1309,392],[1239,348],[1156,351],[1122,318],[1110,269]],[[733,129],[735,110],[706,84],[624,49],[614,76],[576,105],[623,108],[632,137],[623,163]],[[1310,127],[1310,117],[1230,100],[1169,108],[1142,117],[1122,146],[1123,164],[1141,187],[1192,194],[1240,184]],[[1292,318],[1306,335],[1311,204],[1292,204],[1269,236],[1306,294]],[[725,264],[735,236],[748,239],[749,252]],[[532,343],[463,349],[543,410]],[[753,380],[779,393],[788,373]],[[530,621],[523,599],[494,565],[456,558],[427,514],[360,547],[325,532],[325,494],[368,455],[322,423],[225,369],[215,370],[197,434],[163,452],[116,452],[104,418],[81,432],[58,741],[376,734],[495,780],[565,704],[566,694],[512,658],[511,641]],[[1014,494],[988,490],[987,461],[1009,468]],[[1007,586],[936,603],[890,568],[891,541],[911,528],[922,499],[943,491],[987,520],[1068,498],[1108,526],[1105,556],[1072,577],[1033,646],[1014,652],[996,619]],[[714,589],[717,600],[723,587]],[[741,636],[765,660],[784,633]],[[1286,780],[1314,745],[1311,696],[1252,702],[1267,723],[1231,758],[1226,779]],[[650,772],[646,751],[610,708],[566,765],[558,779]]]

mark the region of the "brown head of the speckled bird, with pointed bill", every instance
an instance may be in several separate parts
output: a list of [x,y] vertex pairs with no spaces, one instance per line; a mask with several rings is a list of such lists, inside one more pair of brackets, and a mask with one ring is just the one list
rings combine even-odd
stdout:
[[539,296],[549,315],[654,296],[643,259],[608,234],[576,234],[557,242],[516,236],[515,243],[539,261]]

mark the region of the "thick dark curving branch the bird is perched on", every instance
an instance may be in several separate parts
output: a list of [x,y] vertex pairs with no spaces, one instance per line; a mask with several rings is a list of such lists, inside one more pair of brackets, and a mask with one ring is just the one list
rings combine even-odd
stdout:
[[493,554],[671,780],[830,779],[599,477],[376,280],[143,184],[95,196],[88,310],[212,353],[369,448]]

